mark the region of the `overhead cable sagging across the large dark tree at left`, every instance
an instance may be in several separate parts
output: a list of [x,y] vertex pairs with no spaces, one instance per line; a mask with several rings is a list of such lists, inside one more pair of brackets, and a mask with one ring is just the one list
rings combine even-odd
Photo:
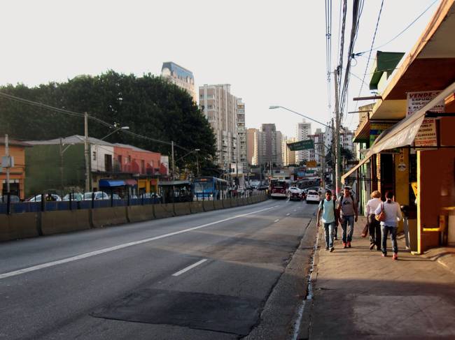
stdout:
[[[65,110],[65,109],[61,109],[61,108],[55,108],[55,106],[39,103],[37,101],[29,101],[28,99],[25,99],[25,98],[21,98],[21,97],[18,97],[18,96],[13,96],[12,94],[6,94],[4,92],[0,92],[0,96],[2,96],[3,98],[8,98],[8,99],[10,99],[12,101],[17,101],[17,102],[20,102],[20,103],[25,103],[27,105],[36,106],[38,108],[44,108],[46,110],[55,111],[55,112],[59,112],[59,113],[62,113],[62,114],[68,114],[68,115],[74,116],[74,117],[82,117],[82,118],[84,117],[84,114],[81,113],[81,112],[74,112],[74,111]],[[90,116],[90,114],[88,115],[88,119],[90,119],[92,121],[96,121],[97,123],[102,124],[104,126],[107,126],[109,128],[116,128],[115,125],[110,124],[107,121],[104,121],[104,120],[99,119],[97,117]],[[155,138],[148,137],[146,135],[139,135],[139,133],[134,133],[134,132],[129,131],[129,130],[120,130],[120,132],[126,133],[127,135],[132,135],[132,136],[134,136],[136,138],[141,138],[141,139],[144,139],[144,140],[150,140],[151,142],[158,142],[160,144],[172,145],[172,142],[167,142],[165,140],[158,140],[158,139],[155,139]],[[174,143],[174,147],[178,147],[179,149],[182,149],[182,150],[187,151],[187,152],[190,151],[189,149],[186,149],[186,147],[182,147],[181,145],[178,145],[176,143]]]

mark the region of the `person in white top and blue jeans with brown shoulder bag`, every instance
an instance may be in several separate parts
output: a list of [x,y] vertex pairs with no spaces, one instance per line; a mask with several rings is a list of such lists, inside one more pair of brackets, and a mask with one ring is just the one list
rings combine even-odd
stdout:
[[393,192],[387,191],[386,202],[381,203],[374,211],[379,215],[381,211],[384,212],[386,218],[381,221],[381,238],[382,238],[382,257],[387,256],[387,234],[390,232],[390,239],[392,242],[393,260],[398,260],[398,244],[396,242],[397,222],[402,219],[401,209],[398,202],[393,200]]

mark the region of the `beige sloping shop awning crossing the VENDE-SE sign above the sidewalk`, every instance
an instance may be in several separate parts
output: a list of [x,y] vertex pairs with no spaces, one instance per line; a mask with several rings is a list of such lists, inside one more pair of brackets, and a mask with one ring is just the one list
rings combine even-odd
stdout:
[[453,94],[455,91],[455,82],[453,82],[449,87],[444,89],[440,94],[435,96],[428,104],[423,106],[420,110],[414,112],[414,114],[402,119],[399,123],[395,124],[391,128],[388,128],[386,131],[381,133],[379,137],[374,141],[374,144],[370,149],[367,149],[365,153],[365,158],[360,160],[358,165],[346,172],[342,176],[342,183],[344,180],[349,177],[353,172],[355,172],[361,165],[363,165],[371,156],[374,154],[379,154],[381,151],[388,149],[395,149],[398,147],[406,147],[407,145],[412,145],[414,138],[416,137],[419,128],[425,119],[426,112],[430,111],[433,106],[440,101],[444,101],[445,98]]

